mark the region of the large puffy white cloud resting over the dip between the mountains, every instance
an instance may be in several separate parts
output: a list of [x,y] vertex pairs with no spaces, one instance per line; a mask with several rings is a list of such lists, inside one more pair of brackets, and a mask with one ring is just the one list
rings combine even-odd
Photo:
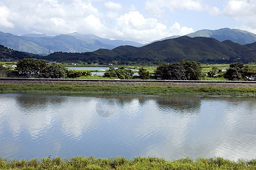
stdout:
[[116,39],[137,40],[142,43],[173,35],[184,35],[192,31],[192,28],[181,27],[178,23],[167,28],[155,18],[145,19],[139,11],[121,15],[116,19],[116,27],[112,30]]

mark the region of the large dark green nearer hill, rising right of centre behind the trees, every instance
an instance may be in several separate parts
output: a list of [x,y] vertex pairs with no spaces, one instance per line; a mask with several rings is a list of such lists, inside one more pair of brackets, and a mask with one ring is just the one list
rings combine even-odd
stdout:
[[119,46],[115,49],[99,49],[87,53],[53,53],[43,57],[49,61],[145,61],[145,62],[177,62],[181,59],[202,63],[256,62],[255,49],[226,40],[220,42],[207,37],[182,36],[153,42],[136,48]]

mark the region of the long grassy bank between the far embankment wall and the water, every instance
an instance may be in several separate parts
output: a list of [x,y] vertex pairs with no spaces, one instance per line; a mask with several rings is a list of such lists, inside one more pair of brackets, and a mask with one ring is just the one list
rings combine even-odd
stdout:
[[256,96],[254,87],[177,87],[177,86],[93,86],[65,84],[0,84],[1,93],[40,94],[140,94],[140,95],[229,95]]

